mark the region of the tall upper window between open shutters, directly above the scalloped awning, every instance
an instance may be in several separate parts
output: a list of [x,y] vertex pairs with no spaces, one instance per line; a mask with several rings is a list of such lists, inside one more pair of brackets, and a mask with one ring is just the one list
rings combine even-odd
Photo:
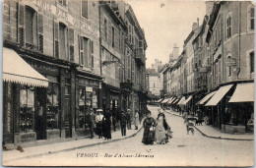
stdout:
[[37,46],[37,16],[36,12],[26,6],[26,46]]

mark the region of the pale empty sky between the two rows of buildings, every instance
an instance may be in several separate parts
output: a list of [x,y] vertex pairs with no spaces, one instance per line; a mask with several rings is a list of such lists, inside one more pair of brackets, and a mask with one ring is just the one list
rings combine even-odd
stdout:
[[148,48],[146,67],[150,68],[159,59],[162,64],[168,62],[173,44],[182,52],[183,43],[192,30],[192,24],[203,22],[206,14],[205,1],[173,0],[126,0],[145,31]]

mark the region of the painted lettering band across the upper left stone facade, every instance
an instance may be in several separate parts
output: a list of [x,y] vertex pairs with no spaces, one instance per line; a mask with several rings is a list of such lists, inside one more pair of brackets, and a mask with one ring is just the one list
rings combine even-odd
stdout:
[[96,28],[93,28],[90,25],[88,25],[87,23],[84,23],[84,22],[80,21],[79,19],[72,17],[66,11],[64,11],[60,8],[57,8],[56,6],[50,4],[49,2],[46,2],[44,0],[32,0],[32,3],[46,11],[49,11],[52,15],[62,18],[63,20],[65,20],[69,24],[73,25],[74,27],[88,29],[94,35],[99,37],[99,31]]

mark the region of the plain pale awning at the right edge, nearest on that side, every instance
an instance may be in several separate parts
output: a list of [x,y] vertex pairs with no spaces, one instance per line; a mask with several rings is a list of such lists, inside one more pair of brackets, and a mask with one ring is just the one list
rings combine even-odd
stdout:
[[254,102],[254,83],[237,84],[228,102]]

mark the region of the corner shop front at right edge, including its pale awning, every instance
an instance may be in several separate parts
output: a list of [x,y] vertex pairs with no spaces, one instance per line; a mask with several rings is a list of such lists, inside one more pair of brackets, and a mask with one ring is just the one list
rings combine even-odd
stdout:
[[226,99],[223,130],[231,133],[253,133],[254,83],[236,84],[233,94]]

